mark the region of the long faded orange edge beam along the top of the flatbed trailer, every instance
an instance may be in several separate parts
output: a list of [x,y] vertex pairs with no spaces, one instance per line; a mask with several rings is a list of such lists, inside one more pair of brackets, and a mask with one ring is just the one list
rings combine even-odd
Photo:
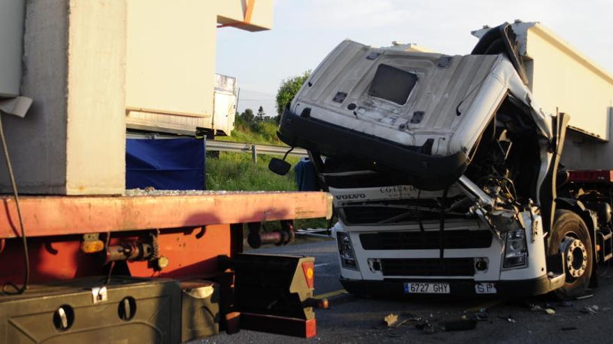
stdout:
[[[0,238],[19,236],[12,197],[0,197]],[[27,236],[198,227],[331,215],[327,193],[255,192],[204,195],[68,197],[24,196]]]

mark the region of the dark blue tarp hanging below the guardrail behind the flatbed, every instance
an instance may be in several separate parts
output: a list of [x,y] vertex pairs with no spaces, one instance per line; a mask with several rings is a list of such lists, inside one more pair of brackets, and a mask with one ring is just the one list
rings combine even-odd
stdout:
[[125,188],[203,190],[205,140],[127,139]]

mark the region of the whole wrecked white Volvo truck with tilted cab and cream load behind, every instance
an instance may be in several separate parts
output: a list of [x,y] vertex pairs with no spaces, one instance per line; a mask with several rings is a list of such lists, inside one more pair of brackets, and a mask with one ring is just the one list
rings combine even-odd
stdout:
[[341,42],[281,118],[334,195],[351,293],[572,299],[612,257],[613,77],[538,23],[474,35],[466,56]]

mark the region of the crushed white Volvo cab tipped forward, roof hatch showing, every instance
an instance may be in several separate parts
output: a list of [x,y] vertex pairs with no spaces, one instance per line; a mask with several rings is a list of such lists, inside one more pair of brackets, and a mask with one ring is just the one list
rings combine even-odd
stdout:
[[355,156],[441,190],[466,171],[502,104],[550,137],[548,118],[502,55],[445,56],[346,40],[304,83],[279,137],[324,156]]

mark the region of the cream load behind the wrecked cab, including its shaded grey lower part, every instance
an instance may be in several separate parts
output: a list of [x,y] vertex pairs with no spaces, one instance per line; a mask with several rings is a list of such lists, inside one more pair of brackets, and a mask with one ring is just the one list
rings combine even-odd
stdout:
[[[528,87],[545,113],[571,120],[562,162],[569,169],[613,168],[613,75],[538,22],[511,24]],[[473,31],[481,38],[488,27]]]

